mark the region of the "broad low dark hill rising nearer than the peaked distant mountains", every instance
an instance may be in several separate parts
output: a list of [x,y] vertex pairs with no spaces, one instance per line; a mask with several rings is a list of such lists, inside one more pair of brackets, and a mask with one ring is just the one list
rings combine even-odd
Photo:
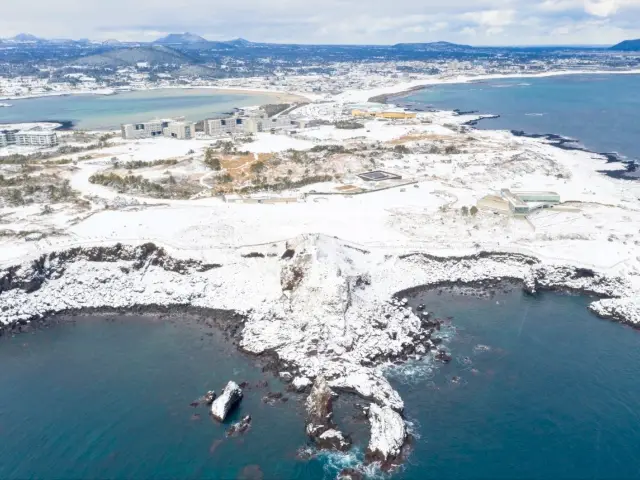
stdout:
[[117,48],[98,55],[77,58],[75,65],[91,67],[126,67],[138,63],[150,65],[191,65],[194,59],[162,45],[135,48]]

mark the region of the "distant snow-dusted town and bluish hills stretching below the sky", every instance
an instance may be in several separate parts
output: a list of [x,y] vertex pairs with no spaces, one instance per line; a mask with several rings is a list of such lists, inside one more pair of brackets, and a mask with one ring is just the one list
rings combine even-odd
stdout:
[[490,48],[435,42],[298,48],[243,39],[210,42],[193,34],[151,43],[22,34],[0,40],[0,99],[179,86],[336,94],[434,76],[632,69],[640,67],[635,46]]

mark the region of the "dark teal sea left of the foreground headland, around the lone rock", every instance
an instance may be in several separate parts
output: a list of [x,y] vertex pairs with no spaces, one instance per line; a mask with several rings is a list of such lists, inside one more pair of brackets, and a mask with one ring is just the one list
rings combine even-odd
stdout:
[[[0,478],[226,479],[251,465],[265,478],[322,475],[319,462],[296,460],[298,401],[263,404],[283,385],[207,333],[85,318],[0,341]],[[189,404],[230,379],[266,379],[270,389],[246,391],[231,421],[251,414],[252,429],[226,439],[226,426]]]

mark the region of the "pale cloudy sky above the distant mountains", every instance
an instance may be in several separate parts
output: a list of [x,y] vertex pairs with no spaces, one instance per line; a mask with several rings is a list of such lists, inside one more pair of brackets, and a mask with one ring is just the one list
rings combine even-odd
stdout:
[[640,38],[640,0],[3,0],[0,36],[310,44],[597,45]]

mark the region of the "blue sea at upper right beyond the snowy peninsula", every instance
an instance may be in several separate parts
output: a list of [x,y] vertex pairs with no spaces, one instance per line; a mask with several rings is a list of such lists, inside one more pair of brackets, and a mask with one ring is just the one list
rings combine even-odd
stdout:
[[640,75],[565,75],[438,85],[400,101],[500,115],[478,128],[555,133],[640,159],[639,92]]

